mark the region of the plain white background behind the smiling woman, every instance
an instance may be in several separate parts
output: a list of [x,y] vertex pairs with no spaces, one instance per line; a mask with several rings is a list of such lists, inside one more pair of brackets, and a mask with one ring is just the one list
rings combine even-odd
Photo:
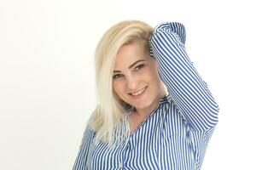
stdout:
[[1,0],[0,169],[73,167],[96,105],[96,43],[120,20],[183,23],[220,107],[202,169],[255,168],[254,15],[245,0]]

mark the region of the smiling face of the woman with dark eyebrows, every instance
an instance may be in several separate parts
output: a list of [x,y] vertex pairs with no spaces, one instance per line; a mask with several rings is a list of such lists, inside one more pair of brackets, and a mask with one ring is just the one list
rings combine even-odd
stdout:
[[152,111],[163,94],[156,60],[144,50],[142,41],[119,49],[113,69],[113,91],[137,111]]

